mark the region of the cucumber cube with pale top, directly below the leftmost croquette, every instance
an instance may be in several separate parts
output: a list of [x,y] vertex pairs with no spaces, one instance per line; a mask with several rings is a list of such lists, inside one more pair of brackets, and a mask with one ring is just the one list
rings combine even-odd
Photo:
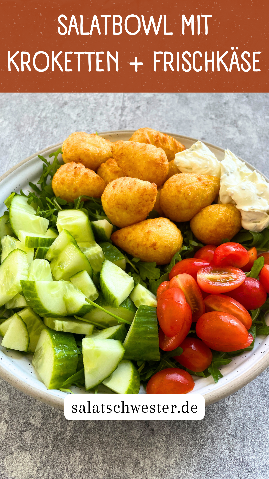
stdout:
[[67,229],[76,241],[94,241],[89,217],[79,209],[59,211],[56,226],[59,233]]

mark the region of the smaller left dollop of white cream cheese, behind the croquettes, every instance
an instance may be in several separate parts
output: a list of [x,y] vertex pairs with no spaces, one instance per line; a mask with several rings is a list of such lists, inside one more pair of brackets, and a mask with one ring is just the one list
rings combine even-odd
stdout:
[[174,163],[182,173],[221,176],[220,161],[202,141],[196,141],[191,148],[176,153]]

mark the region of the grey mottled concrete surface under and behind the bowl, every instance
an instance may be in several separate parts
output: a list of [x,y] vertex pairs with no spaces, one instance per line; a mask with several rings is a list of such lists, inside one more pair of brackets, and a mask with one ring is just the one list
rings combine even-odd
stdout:
[[[266,93],[2,93],[0,174],[76,130],[149,126],[269,176]],[[268,479],[269,370],[201,422],[68,422],[0,381],[0,479]]]

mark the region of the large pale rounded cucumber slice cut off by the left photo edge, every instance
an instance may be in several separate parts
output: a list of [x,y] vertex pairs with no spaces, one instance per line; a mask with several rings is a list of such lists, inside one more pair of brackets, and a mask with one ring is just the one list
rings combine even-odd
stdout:
[[27,279],[27,269],[27,256],[21,250],[11,251],[2,262],[0,266],[0,306],[22,291],[21,280]]

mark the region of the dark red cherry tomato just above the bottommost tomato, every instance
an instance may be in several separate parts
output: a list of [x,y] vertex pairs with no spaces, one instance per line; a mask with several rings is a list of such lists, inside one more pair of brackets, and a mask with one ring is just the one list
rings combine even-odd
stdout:
[[179,346],[183,349],[183,353],[180,356],[174,356],[174,359],[181,366],[198,373],[211,365],[213,354],[200,339],[185,338]]

